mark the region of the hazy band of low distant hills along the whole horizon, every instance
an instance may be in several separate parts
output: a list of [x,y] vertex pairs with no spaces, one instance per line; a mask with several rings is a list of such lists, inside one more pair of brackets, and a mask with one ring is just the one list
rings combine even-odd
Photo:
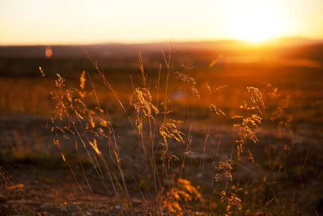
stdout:
[[[282,37],[267,42],[252,43],[239,40],[149,42],[149,43],[103,43],[93,45],[34,45],[0,46],[0,58],[45,58],[45,49],[52,50],[52,58],[82,58],[85,51],[97,58],[132,57],[139,51],[145,54],[157,54],[161,51],[179,49],[185,53],[225,53],[230,55],[250,55],[263,53],[294,53],[299,51],[322,55],[323,39],[304,37]],[[317,50],[316,50],[317,49]],[[314,52],[314,51],[315,52]],[[317,51],[317,52],[316,52]]]

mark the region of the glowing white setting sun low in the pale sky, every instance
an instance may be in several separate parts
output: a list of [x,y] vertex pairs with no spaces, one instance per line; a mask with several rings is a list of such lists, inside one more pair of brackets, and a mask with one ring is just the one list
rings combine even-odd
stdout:
[[262,42],[284,35],[286,22],[270,4],[250,1],[234,7],[229,22],[230,37],[248,42]]

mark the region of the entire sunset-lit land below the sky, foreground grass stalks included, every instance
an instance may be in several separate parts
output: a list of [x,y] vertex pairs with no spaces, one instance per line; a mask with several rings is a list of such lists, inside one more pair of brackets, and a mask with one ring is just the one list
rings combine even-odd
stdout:
[[1,47],[0,212],[321,215],[323,46],[235,43]]

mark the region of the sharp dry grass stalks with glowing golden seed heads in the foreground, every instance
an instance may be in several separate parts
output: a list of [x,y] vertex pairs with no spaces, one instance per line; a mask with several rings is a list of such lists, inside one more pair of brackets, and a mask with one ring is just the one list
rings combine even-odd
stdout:
[[[164,55],[164,53],[163,53]],[[194,152],[191,151],[192,140],[194,139],[191,129],[189,131],[189,136],[187,142],[185,141],[185,133],[181,131],[180,125],[185,124],[183,120],[174,120],[169,117],[172,110],[169,109],[169,104],[171,103],[169,95],[169,79],[172,74],[175,75],[177,79],[180,79],[185,83],[186,88],[186,110],[187,121],[190,122],[189,106],[192,97],[200,100],[200,95],[203,91],[197,89],[197,84],[194,78],[185,74],[184,72],[173,72],[173,62],[174,62],[174,52],[170,52],[167,56],[164,55],[166,72],[160,70],[157,84],[148,84],[149,76],[144,71],[143,60],[141,54],[139,53],[139,70],[141,84],[135,86],[131,79],[131,85],[133,93],[130,95],[129,104],[133,107],[134,111],[126,109],[124,102],[119,98],[118,92],[116,92],[109,81],[109,77],[99,69],[97,61],[89,57],[96,69],[96,74],[98,81],[103,83],[106,87],[106,91],[110,92],[114,100],[116,100],[123,111],[123,114],[129,120],[129,123],[133,129],[134,134],[138,142],[138,147],[142,150],[142,167],[141,174],[149,176],[149,181],[147,182],[146,189],[141,190],[140,185],[136,185],[140,190],[142,198],[147,204],[147,209],[149,214],[195,214],[197,212],[207,212],[214,214],[226,214],[226,215],[237,215],[237,214],[257,214],[272,201],[278,202],[278,198],[275,190],[275,183],[268,183],[265,176],[259,176],[256,171],[251,171],[245,165],[240,164],[240,161],[247,159],[251,163],[255,164],[255,159],[251,150],[250,145],[257,144],[258,138],[255,129],[259,128],[262,122],[262,117],[264,110],[266,109],[263,93],[266,94],[268,98],[275,99],[277,101],[277,107],[271,114],[272,122],[276,122],[278,119],[278,134],[280,137],[286,137],[284,135],[291,134],[290,123],[291,117],[288,115],[286,117],[285,110],[288,109],[288,96],[282,96],[277,88],[272,88],[270,84],[266,84],[262,92],[255,87],[246,87],[245,100],[242,105],[240,105],[241,115],[233,115],[231,118],[234,119],[233,123],[233,134],[235,134],[234,142],[232,144],[231,153],[228,152],[227,155],[219,154],[221,151],[221,140],[219,140],[219,145],[217,150],[212,150],[212,147],[208,143],[208,138],[210,136],[211,125],[217,118],[226,118],[225,112],[218,107],[216,101],[214,101],[213,96],[218,94],[218,90],[224,87],[217,87],[212,90],[208,84],[206,84],[206,93],[210,97],[209,103],[209,113],[207,122],[207,133],[204,138],[204,145],[202,151],[202,157],[199,165],[196,167],[196,163],[192,162]],[[185,67],[187,68],[187,67]],[[51,97],[56,101],[56,109],[54,115],[51,118],[51,131],[57,136],[57,139],[53,140],[53,143],[58,147],[62,159],[68,163],[68,158],[64,154],[64,150],[61,147],[60,140],[66,139],[70,140],[71,144],[75,144],[76,150],[82,146],[82,148],[87,152],[87,156],[91,161],[93,167],[96,170],[97,177],[101,180],[103,188],[106,190],[107,196],[110,197],[111,202],[114,206],[121,206],[120,208],[115,207],[116,214],[126,214],[127,212],[136,215],[136,209],[133,208],[133,201],[131,198],[131,193],[129,192],[128,184],[126,183],[124,176],[124,165],[122,162],[122,156],[119,151],[119,141],[115,134],[115,129],[109,114],[109,109],[101,107],[99,95],[96,91],[96,84],[93,83],[91,76],[86,72],[81,74],[80,78],[80,89],[67,88],[66,80],[62,78],[60,74],[57,74],[57,79],[55,80],[54,87],[46,79],[45,72],[40,68],[42,76],[45,78]],[[165,94],[161,94],[160,90],[160,78],[165,76]],[[86,85],[89,85],[90,92],[86,91]],[[230,88],[225,86],[226,88]],[[151,94],[151,91],[155,91]],[[204,91],[205,92],[205,91]],[[86,104],[86,98],[91,97],[95,103],[95,107],[88,107]],[[159,102],[160,98],[164,100],[162,103]],[[160,103],[160,104],[158,104]],[[200,102],[202,103],[202,102]],[[154,105],[156,104],[156,105]],[[129,113],[134,112],[134,115]],[[215,115],[213,115],[215,114]],[[229,117],[229,116],[228,116]],[[230,118],[230,117],[229,117]],[[65,123],[65,125],[63,125]],[[67,124],[66,124],[67,123]],[[58,133],[60,132],[60,133]],[[159,133],[157,133],[159,132]],[[75,135],[75,136],[74,136]],[[73,138],[72,138],[73,137]],[[98,145],[98,140],[104,145],[108,146],[109,152],[102,152]],[[179,148],[183,149],[184,158],[182,160],[181,171],[178,172],[176,167],[180,159],[178,155],[172,152],[170,148],[172,146],[182,146]],[[185,146],[186,145],[186,146]],[[271,146],[270,148],[273,148]],[[276,148],[281,148],[277,146]],[[176,147],[176,149],[178,149]],[[234,154],[234,149],[236,149],[236,155]],[[286,170],[286,164],[284,164],[283,155],[287,155],[287,150],[291,151],[292,147],[287,148],[284,146],[281,148],[280,154],[276,154],[276,158],[273,158],[274,164],[279,165],[282,169]],[[271,149],[266,149],[267,153],[272,154]],[[207,154],[206,154],[207,152]],[[286,152],[286,153],[285,153]],[[160,155],[160,156],[158,156]],[[185,164],[185,156],[189,155],[190,163]],[[209,157],[209,158],[206,158]],[[225,160],[221,158],[226,158]],[[237,161],[235,161],[237,158]],[[159,163],[158,161],[161,161]],[[200,192],[202,190],[196,179],[196,172],[203,172],[204,169],[209,168],[209,165],[204,165],[204,161],[210,163],[213,166],[213,179],[216,182],[224,181],[224,188],[217,187],[219,194],[218,200],[219,204],[214,204],[211,200],[214,199],[213,194],[207,193],[207,187],[212,188],[212,184],[207,186],[203,185],[205,194]],[[218,161],[218,165],[216,165]],[[202,164],[202,165],[201,165]],[[78,183],[73,168],[68,166],[79,185],[80,190],[83,192],[83,188]],[[190,171],[186,171],[185,176],[188,179],[182,178],[182,170],[186,170],[185,166],[191,166]],[[272,192],[267,193],[267,203],[264,206],[246,205],[246,200],[248,200],[248,186],[244,185],[237,188],[235,186],[235,178],[232,175],[233,169],[242,167],[245,171],[249,172],[250,175],[255,176],[261,181],[256,184],[260,184],[258,189],[265,189]],[[83,178],[88,179],[85,172],[83,172]],[[88,183],[88,181],[86,181]],[[213,182],[213,181],[212,181]],[[195,184],[194,184],[195,183]],[[265,184],[263,184],[265,183]],[[239,184],[239,183],[238,183]],[[91,186],[88,183],[88,190],[91,191]],[[253,190],[253,189],[251,189]],[[239,193],[244,192],[243,198],[240,198]],[[205,196],[205,198],[204,198]],[[255,194],[254,194],[255,196]],[[208,197],[208,198],[206,198]],[[90,197],[86,197],[91,199]],[[261,202],[260,202],[261,203]],[[214,206],[223,205],[224,208],[220,206],[214,209]],[[209,206],[209,207],[207,207]],[[213,207],[212,207],[213,206]],[[257,207],[260,206],[260,207]],[[255,210],[259,208],[258,210]]]

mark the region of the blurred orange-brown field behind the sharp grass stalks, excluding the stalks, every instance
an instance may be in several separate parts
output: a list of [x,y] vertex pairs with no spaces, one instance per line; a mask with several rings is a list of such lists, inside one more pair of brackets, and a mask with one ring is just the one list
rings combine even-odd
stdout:
[[[182,200],[181,206],[186,207],[184,214],[322,213],[319,210],[322,209],[322,204],[319,203],[323,199],[323,106],[317,102],[323,99],[323,45],[309,42],[285,45],[280,42],[255,47],[227,41],[218,44],[100,45],[51,49],[52,57],[46,58],[44,47],[0,48],[0,165],[7,171],[6,176],[11,176],[6,183],[8,187],[18,184],[24,186],[13,187],[9,191],[6,190],[7,186],[4,187],[0,210],[5,214],[35,214],[43,211],[54,215],[116,214],[114,205],[104,195],[103,186],[100,185],[100,179],[86,152],[74,149],[73,140],[77,139],[76,135],[69,135],[69,140],[62,141],[61,145],[76,178],[89,197],[91,193],[86,189],[87,181],[93,186],[95,193],[90,202],[82,197],[69,171],[69,165],[62,161],[60,151],[52,144],[52,140],[56,139],[55,134],[45,127],[55,110],[55,101],[51,99],[39,66],[50,83],[56,79],[56,73],[59,73],[66,79],[67,87],[79,88],[82,71],[89,74],[101,108],[109,110],[135,211],[138,215],[151,213],[151,206],[147,206],[142,198],[142,193],[151,195],[153,191],[150,185],[151,173],[147,171],[147,165],[145,168],[143,165],[145,162],[147,164],[147,159],[142,154],[136,134],[127,122],[127,115],[123,113],[113,93],[103,85],[90,60],[85,57],[85,50],[97,59],[99,68],[104,71],[131,119],[136,118],[136,112],[129,103],[133,93],[132,82],[134,87],[141,85],[137,52],[141,50],[147,85],[153,103],[159,98],[156,106],[159,110],[163,110],[160,102],[165,98],[167,74],[161,51],[165,55],[172,53],[168,82],[168,110],[172,112],[168,114],[168,118],[184,121],[179,126],[184,133],[184,143],[169,143],[169,151],[179,160],[172,163],[168,178],[178,179],[181,173],[181,178],[198,186],[207,200],[203,203],[193,200],[186,204]],[[177,78],[177,71],[195,79],[196,89],[200,92],[199,99]],[[206,83],[214,89],[227,87],[218,90],[210,98]],[[157,86],[160,87],[159,92]],[[249,111],[240,108],[248,96],[246,87],[259,89],[265,104],[261,113],[263,121],[255,129],[258,142],[253,144],[248,141],[254,163],[248,160],[247,151],[243,152],[241,160],[236,155],[236,146],[232,153],[237,132],[232,128],[235,120],[231,117],[248,115]],[[292,116],[292,121],[288,122],[288,132],[283,134],[277,131],[280,119],[271,120],[272,112],[281,106],[280,101],[271,99],[267,94],[274,88],[278,88],[282,99],[290,97],[281,117],[286,120],[286,116]],[[86,83],[84,91],[88,92],[84,103],[88,108],[95,109],[97,103],[90,83]],[[226,116],[213,117],[210,122],[210,103],[216,104]],[[62,125],[64,121],[66,119],[62,121]],[[156,118],[156,125],[159,127],[161,124],[163,117]],[[203,153],[206,137],[207,149]],[[194,154],[184,154],[190,139]],[[98,146],[102,154],[109,157],[109,146],[103,139],[98,139]],[[219,150],[218,155],[214,156],[216,149]],[[167,188],[170,184],[167,181],[170,180],[164,176],[164,168],[159,160],[161,153],[156,150],[155,154],[156,166],[160,169],[160,175],[163,174],[162,184]],[[188,155],[187,166],[182,168],[185,155]],[[233,164],[233,182],[216,182],[214,175],[217,170],[214,164],[230,156],[237,162]],[[205,164],[203,167],[202,160]],[[107,161],[112,163],[110,159]],[[82,170],[85,170],[88,180],[82,177]],[[116,178],[121,179],[119,175]],[[267,184],[274,182],[275,184]],[[109,183],[107,185],[111,187]],[[228,193],[232,191],[241,198],[240,204],[231,203],[231,210],[230,207],[228,210],[230,204],[221,200],[220,192],[224,188]],[[242,189],[237,190],[238,188]],[[50,206],[44,207],[44,203],[50,203]],[[78,207],[76,210],[69,210],[67,206],[70,205]]]

